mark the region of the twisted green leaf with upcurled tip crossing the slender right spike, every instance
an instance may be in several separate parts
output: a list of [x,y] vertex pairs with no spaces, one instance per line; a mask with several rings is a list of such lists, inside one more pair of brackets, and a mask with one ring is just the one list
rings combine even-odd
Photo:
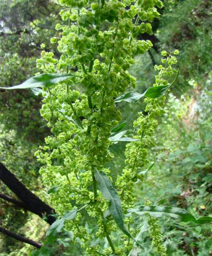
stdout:
[[171,84],[149,87],[143,94],[139,94],[137,91],[129,91],[126,94],[123,94],[117,97],[114,100],[114,102],[117,103],[121,101],[126,101],[129,103],[134,103],[144,96],[151,99],[159,98],[163,96],[168,91],[168,89],[173,85],[173,83],[178,78],[178,75],[179,75],[179,72],[176,74],[176,77],[174,78]]

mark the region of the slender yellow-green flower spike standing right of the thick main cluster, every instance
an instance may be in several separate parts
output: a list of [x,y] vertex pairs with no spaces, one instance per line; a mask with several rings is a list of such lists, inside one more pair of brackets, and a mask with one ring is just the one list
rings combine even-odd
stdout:
[[[155,70],[159,73],[155,76],[156,82],[154,87],[167,86],[167,78],[176,73],[176,70],[171,66],[177,62],[173,54],[179,54],[179,52],[166,53],[167,57],[161,60],[163,65],[155,65]],[[163,52],[162,55],[164,56]],[[144,112],[148,112],[148,114],[145,115],[143,112],[140,112],[138,113],[138,119],[134,121],[134,128],[137,133],[134,138],[137,141],[126,145],[126,167],[116,181],[125,209],[133,207],[136,197],[134,184],[137,180],[143,180],[144,178],[143,173],[140,171],[149,162],[147,158],[148,149],[155,145],[152,135],[157,128],[157,117],[164,113],[163,106],[165,100],[165,96],[155,99],[146,98],[147,105]]]

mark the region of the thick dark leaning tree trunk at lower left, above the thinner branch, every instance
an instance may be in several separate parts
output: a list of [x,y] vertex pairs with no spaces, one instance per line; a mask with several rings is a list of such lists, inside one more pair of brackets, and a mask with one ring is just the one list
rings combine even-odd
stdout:
[[50,225],[55,222],[55,217],[51,216],[51,214],[55,214],[54,209],[29,191],[1,162],[0,180],[26,205],[28,211],[37,214],[41,218],[46,215],[46,222]]

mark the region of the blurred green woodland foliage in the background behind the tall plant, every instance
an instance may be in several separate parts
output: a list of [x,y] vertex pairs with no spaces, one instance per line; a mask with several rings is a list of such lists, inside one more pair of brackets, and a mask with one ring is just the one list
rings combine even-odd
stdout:
[[[155,21],[155,36],[160,50],[179,49],[178,82],[167,101],[167,114],[161,118],[156,134],[157,146],[151,150],[151,160],[156,164],[146,173],[143,187],[137,187],[138,203],[146,197],[161,205],[179,206],[199,215],[211,214],[211,52],[212,4],[208,0],[164,1],[161,17]],[[58,7],[52,1],[2,0],[0,2],[0,83],[14,85],[37,72],[36,59],[40,44],[53,50],[49,39],[54,36]],[[152,84],[154,68],[152,57],[159,63],[154,49],[136,56],[130,72],[137,77],[137,91],[142,93]],[[48,130],[40,117],[41,98],[31,91],[12,93],[1,91],[0,159],[26,186],[48,202],[46,189],[39,178],[39,165],[33,157],[38,144],[43,143]],[[144,109],[142,100],[137,104],[121,103],[127,128],[137,112]],[[122,170],[125,143],[112,147],[118,157],[110,166],[114,177]],[[1,183],[1,193],[12,193]],[[48,225],[38,217],[16,210],[0,202],[4,214],[0,224],[28,238],[42,241]],[[18,214],[17,214],[18,213]],[[197,217],[197,216],[196,216]],[[211,227],[178,225],[173,219],[163,217],[164,244],[169,255],[211,254]],[[39,223],[39,225],[38,225]],[[146,220],[147,223],[147,220]],[[174,227],[174,228],[173,228]],[[147,224],[143,227],[141,241],[145,251],[133,255],[155,255],[151,248]],[[65,237],[65,239],[64,239]],[[63,238],[63,239],[62,239]],[[30,246],[0,235],[0,255],[29,255]],[[22,254],[21,254],[22,253]],[[70,245],[70,234],[64,232],[49,255],[79,255],[79,248]],[[70,254],[72,253],[72,254]]]

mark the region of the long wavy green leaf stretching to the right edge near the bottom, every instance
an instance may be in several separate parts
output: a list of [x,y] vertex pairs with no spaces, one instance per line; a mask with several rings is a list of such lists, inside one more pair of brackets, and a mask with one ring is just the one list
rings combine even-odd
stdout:
[[169,214],[172,217],[180,218],[182,222],[194,222],[197,224],[205,224],[212,222],[212,217],[200,217],[196,219],[191,213],[181,208],[171,206],[141,205],[136,209],[129,209],[128,212],[134,212],[139,215],[142,213],[149,213],[151,215],[151,213],[153,213],[154,215],[156,214],[158,217],[160,217],[162,214]]

